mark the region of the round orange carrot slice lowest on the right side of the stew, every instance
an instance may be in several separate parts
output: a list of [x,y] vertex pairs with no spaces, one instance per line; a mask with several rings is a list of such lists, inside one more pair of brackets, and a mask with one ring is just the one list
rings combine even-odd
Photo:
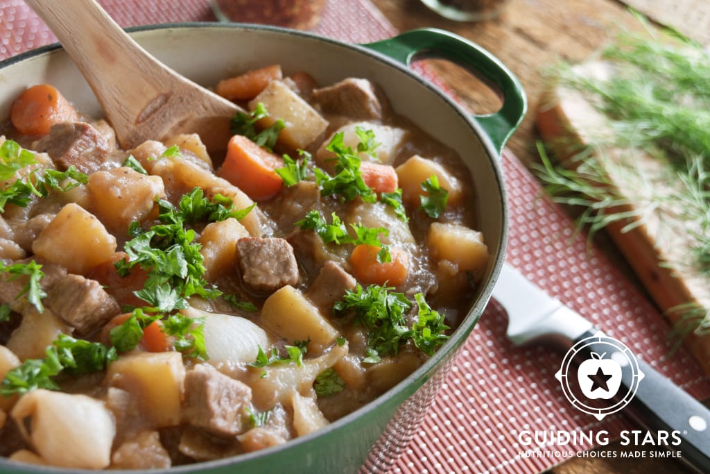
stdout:
[[380,249],[376,245],[356,245],[350,256],[353,275],[367,284],[403,284],[409,275],[409,254],[398,247],[391,247],[391,262],[380,263],[377,261]]

